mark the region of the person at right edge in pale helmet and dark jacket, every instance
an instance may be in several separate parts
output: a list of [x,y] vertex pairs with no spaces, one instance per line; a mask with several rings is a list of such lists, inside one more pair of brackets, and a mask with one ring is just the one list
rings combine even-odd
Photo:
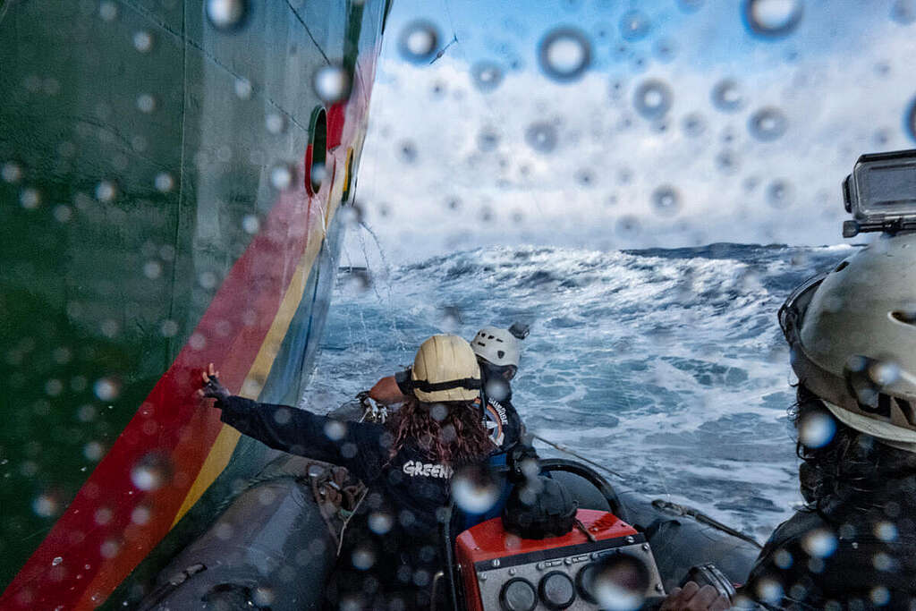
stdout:
[[770,609],[916,608],[916,233],[806,282],[780,326],[806,505],[741,594]]

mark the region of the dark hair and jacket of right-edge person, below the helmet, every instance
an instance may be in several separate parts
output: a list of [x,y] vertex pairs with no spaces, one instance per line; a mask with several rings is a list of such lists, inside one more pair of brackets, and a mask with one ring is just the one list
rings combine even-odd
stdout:
[[768,609],[916,607],[916,454],[833,418],[806,387],[796,426],[833,421],[823,447],[799,442],[806,507],[773,532],[741,594]]

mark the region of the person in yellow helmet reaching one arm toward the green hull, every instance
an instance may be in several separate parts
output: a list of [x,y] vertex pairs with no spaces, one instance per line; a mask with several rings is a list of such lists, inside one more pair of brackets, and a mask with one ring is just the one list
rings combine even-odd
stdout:
[[463,339],[424,342],[412,376],[413,396],[383,425],[232,397],[213,366],[203,375],[202,396],[216,399],[224,422],[272,448],[340,464],[367,487],[344,530],[325,608],[428,609],[444,568],[439,520],[452,476],[493,450],[473,404],[479,367]]

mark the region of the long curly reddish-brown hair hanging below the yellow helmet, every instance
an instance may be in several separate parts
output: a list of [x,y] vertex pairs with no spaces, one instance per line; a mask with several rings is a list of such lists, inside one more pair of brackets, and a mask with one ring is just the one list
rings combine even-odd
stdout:
[[480,461],[496,448],[474,401],[423,403],[409,397],[388,420],[388,429],[394,436],[392,457],[413,442],[436,461],[461,466]]

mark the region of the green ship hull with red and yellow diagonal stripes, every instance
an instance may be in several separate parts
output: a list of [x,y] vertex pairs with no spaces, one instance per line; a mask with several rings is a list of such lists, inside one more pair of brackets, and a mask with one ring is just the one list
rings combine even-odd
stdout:
[[142,598],[273,457],[201,367],[292,403],[311,371],[387,3],[209,4],[0,6],[0,608]]

